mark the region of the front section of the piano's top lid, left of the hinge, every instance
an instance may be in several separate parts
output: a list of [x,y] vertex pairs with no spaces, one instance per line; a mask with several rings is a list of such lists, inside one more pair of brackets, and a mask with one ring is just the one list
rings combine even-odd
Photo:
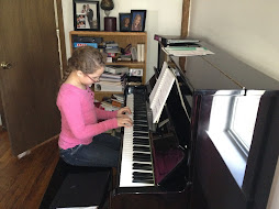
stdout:
[[227,90],[228,95],[238,95],[243,90],[242,86],[226,77],[201,56],[170,56],[170,58],[192,92]]

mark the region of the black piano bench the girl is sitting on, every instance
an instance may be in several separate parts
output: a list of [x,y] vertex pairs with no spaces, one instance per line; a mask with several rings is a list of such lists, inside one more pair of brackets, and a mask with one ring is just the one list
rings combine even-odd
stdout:
[[72,166],[59,158],[40,209],[102,208],[111,188],[111,168]]

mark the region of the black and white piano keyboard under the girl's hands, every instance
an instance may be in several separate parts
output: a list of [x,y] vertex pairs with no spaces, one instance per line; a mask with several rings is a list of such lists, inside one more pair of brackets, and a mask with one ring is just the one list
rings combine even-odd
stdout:
[[[141,97],[142,96],[142,97]],[[124,128],[120,187],[154,186],[148,122],[143,95],[127,95],[134,125]]]

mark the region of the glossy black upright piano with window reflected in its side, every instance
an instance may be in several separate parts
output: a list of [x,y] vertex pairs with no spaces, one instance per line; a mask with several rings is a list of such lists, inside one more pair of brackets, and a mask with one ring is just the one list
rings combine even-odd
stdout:
[[168,57],[177,81],[157,124],[148,96],[165,61],[160,43],[153,78],[125,89],[134,127],[123,129],[112,209],[266,208],[278,158],[279,82],[201,45],[214,54]]

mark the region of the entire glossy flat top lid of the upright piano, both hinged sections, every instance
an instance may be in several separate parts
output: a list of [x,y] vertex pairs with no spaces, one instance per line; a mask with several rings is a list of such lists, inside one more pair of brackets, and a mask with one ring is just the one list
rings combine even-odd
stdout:
[[194,57],[170,56],[176,66],[183,72],[185,79],[193,89],[237,90],[241,88],[279,92],[278,80],[234,58],[224,51],[204,42],[200,44],[214,54]]

